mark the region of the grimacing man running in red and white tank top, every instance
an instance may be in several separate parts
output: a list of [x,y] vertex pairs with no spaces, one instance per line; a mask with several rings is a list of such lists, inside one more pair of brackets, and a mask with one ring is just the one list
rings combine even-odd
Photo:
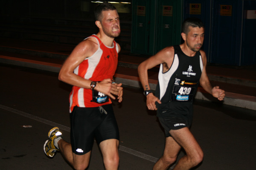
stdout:
[[122,84],[113,82],[120,51],[119,44],[114,41],[120,34],[119,15],[111,3],[100,4],[94,13],[99,33],[80,42],[59,73],[61,81],[73,85],[70,93],[71,144],[65,142],[58,127],[54,127],[48,133],[44,152],[53,157],[60,150],[75,169],[86,169],[95,138],[105,169],[117,170],[119,130],[111,99],[117,97],[122,102]]

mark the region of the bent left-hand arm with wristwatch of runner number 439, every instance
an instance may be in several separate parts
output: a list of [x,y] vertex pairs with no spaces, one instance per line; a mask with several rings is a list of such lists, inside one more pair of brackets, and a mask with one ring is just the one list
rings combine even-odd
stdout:
[[[144,90],[150,90],[149,82],[148,82],[148,69],[155,67],[156,65],[166,63],[167,67],[170,68],[172,65],[174,57],[174,48],[168,47],[159,51],[154,56],[146,59],[142,62],[138,67],[138,73],[140,77],[140,82],[143,85]],[[157,110],[155,102],[161,104],[160,100],[154,96],[154,94],[150,93],[147,95],[147,106],[149,110]]]

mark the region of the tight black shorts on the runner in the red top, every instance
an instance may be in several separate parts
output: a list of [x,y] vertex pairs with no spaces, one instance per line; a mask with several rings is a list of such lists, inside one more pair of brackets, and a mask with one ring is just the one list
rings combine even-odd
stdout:
[[75,107],[70,113],[70,140],[73,153],[84,155],[92,150],[94,138],[99,144],[107,139],[119,140],[119,130],[112,105],[103,105],[107,114],[100,107]]

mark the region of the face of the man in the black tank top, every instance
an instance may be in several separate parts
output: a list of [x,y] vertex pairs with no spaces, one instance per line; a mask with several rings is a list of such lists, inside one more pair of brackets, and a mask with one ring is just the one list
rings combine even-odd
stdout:
[[186,35],[186,45],[192,51],[199,51],[204,42],[204,28],[189,26],[189,32]]

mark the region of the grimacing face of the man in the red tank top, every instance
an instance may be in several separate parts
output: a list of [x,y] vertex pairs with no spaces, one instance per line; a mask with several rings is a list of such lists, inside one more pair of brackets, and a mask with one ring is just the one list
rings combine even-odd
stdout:
[[118,37],[120,34],[119,15],[116,10],[102,11],[101,20],[103,32],[111,38]]

